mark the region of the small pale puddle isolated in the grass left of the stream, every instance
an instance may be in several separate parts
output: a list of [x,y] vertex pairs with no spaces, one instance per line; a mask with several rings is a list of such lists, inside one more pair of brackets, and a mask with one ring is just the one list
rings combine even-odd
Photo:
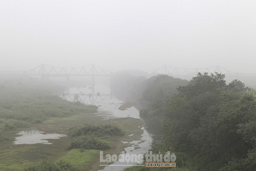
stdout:
[[59,139],[67,136],[63,134],[44,134],[44,132],[39,132],[36,129],[24,130],[17,135],[20,136],[15,138],[14,144],[52,144],[46,139]]

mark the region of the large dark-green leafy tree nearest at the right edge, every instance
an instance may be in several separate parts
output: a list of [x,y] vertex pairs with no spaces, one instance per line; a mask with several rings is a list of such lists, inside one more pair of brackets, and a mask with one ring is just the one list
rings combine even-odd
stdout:
[[254,91],[243,95],[241,81],[226,86],[224,78],[218,73],[199,73],[177,89],[179,94],[170,98],[165,115],[164,144],[196,156],[202,169],[216,170],[228,162],[225,169],[237,168],[232,158],[248,164],[256,155]]

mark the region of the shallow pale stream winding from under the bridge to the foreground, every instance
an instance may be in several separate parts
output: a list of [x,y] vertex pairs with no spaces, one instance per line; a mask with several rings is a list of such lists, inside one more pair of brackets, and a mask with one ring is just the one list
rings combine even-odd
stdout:
[[[94,105],[98,106],[98,111],[95,114],[95,117],[102,117],[103,120],[112,119],[112,118],[125,118],[125,117],[141,119],[139,116],[139,111],[134,106],[130,108],[126,108],[125,110],[118,109],[124,102],[116,99],[113,96],[108,96],[110,94],[110,88],[100,84],[96,84],[95,92],[97,92],[99,96],[97,96],[97,93],[95,93],[94,101],[93,101],[92,99],[93,95],[90,95],[91,93],[90,87],[70,88],[69,94],[66,94],[64,98],[70,101],[78,100],[86,104],[92,104],[93,102]],[[77,98],[77,95],[79,96],[78,98]],[[141,125],[140,127],[141,127],[141,130],[143,130],[143,134],[141,135],[140,139],[134,139],[131,142],[121,141],[122,143],[128,143],[129,146],[123,149],[125,154],[121,154],[119,157],[125,158],[127,155],[139,156],[139,155],[145,154],[151,148],[151,144],[153,141],[152,136],[146,131],[143,125]],[[129,136],[132,137],[133,135],[129,135]],[[134,164],[138,164],[138,162],[127,161],[127,160],[125,160],[125,162],[116,161],[111,165],[105,166],[103,170],[119,171],[119,170],[123,170],[126,167],[130,167]],[[141,166],[138,166],[138,167],[141,167]]]

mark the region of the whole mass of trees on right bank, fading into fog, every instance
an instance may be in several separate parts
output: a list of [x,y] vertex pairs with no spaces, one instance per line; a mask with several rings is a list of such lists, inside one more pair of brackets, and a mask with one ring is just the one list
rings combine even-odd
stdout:
[[[140,117],[151,124],[147,130],[160,127],[163,141],[153,144],[154,153],[176,154],[178,168],[159,169],[256,168],[256,91],[243,82],[235,79],[227,84],[225,74],[219,73],[198,73],[190,81],[167,75],[146,79],[116,74],[113,82],[118,98],[140,105]],[[125,170],[153,169],[158,168]]]

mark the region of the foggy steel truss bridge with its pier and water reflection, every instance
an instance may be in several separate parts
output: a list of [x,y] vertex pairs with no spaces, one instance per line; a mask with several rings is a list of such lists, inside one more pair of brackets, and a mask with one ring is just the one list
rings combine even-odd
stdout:
[[[169,76],[173,76],[176,78],[183,78],[183,79],[191,79],[192,77],[197,76],[198,73],[221,73],[225,74],[226,77],[230,77],[232,79],[239,79],[239,78],[256,78],[256,74],[244,74],[244,73],[236,73],[228,71],[220,66],[209,67],[209,68],[177,68],[168,65],[164,65],[156,70],[147,72],[148,75],[154,76],[158,74],[165,74]],[[95,65],[88,65],[84,67],[52,67],[49,65],[42,64],[37,66],[31,70],[27,71],[0,71],[0,76],[40,76],[42,79],[49,78],[49,77],[66,77],[67,81],[70,80],[71,76],[90,76],[92,77],[92,93],[89,95],[86,94],[78,94],[79,101],[85,102],[90,101],[91,104],[95,104],[97,101],[103,101],[106,99],[113,98],[113,94],[101,94],[98,96],[95,94],[95,76],[108,76],[111,77],[115,73],[111,71],[104,70],[100,67]],[[76,94],[77,95],[77,94]],[[75,100],[75,94],[65,94],[67,100]]]

